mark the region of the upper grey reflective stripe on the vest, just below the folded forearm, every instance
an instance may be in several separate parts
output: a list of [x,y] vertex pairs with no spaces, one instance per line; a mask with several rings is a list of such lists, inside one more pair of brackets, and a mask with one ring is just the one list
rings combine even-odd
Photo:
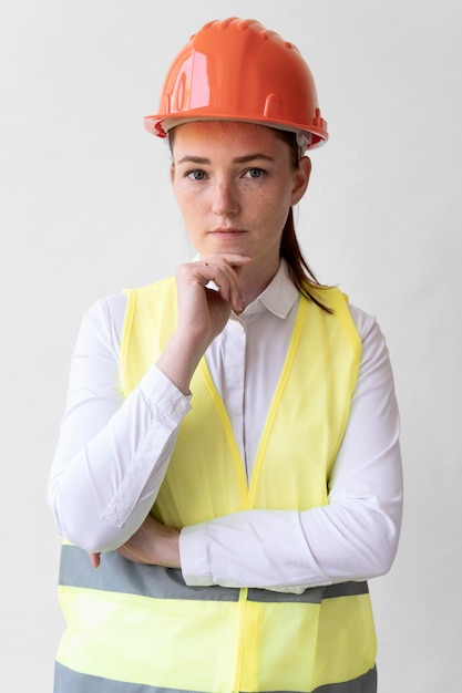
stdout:
[[[197,599],[202,601],[238,601],[239,590],[218,586],[188,587],[181,570],[144,566],[122,558],[116,551],[101,556],[100,568],[92,568],[86,551],[76,546],[63,546],[61,552],[60,585],[127,592],[153,599]],[[312,587],[301,594],[275,592],[251,588],[249,601],[291,602],[319,604],[322,599],[367,594],[368,583],[341,582],[325,587]]]

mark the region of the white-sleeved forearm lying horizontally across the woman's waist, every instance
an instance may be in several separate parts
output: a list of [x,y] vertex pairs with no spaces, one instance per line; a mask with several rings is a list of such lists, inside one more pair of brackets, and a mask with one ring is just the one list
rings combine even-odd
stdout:
[[189,585],[291,591],[373,578],[396,555],[399,500],[396,515],[373,501],[238,513],[182,530],[183,573]]

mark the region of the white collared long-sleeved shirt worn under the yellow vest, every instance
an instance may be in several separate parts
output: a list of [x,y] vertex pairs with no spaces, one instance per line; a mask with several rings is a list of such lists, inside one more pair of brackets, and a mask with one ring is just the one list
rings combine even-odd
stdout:
[[[285,262],[246,310],[232,314],[206,352],[247,477],[296,319],[298,292]],[[84,316],[50,473],[48,499],[61,534],[92,551],[113,550],[150,511],[178,427],[194,406],[153,366],[124,399],[119,358],[126,296]],[[394,558],[402,513],[399,414],[383,335],[350,307],[362,342],[351,412],[329,504],[310,510],[246,510],[179,535],[188,585],[301,591],[367,579]]]

